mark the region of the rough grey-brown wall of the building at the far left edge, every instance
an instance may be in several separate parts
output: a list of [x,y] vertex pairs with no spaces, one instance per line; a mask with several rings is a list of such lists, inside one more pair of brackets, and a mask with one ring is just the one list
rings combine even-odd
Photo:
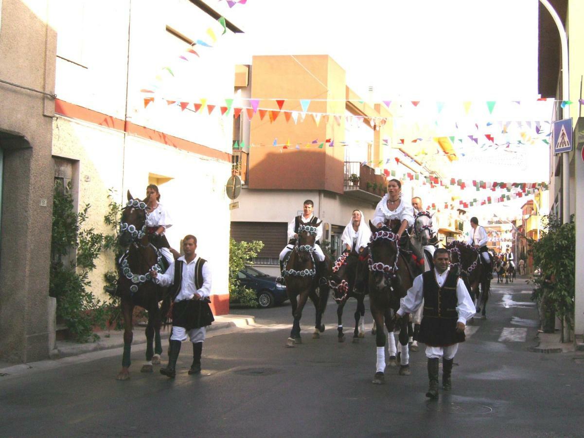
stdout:
[[[48,1],[3,0],[0,78],[54,92],[56,36]],[[0,240],[0,359],[48,357],[53,162],[53,98],[0,84],[0,147],[4,153]],[[19,139],[16,135],[22,137]]]

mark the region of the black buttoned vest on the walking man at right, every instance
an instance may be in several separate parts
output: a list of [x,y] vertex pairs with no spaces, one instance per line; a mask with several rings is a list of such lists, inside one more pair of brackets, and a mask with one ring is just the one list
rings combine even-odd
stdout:
[[424,280],[424,312],[423,316],[430,318],[458,319],[456,306],[456,285],[458,276],[449,271],[446,281],[439,287],[434,270],[422,274]]

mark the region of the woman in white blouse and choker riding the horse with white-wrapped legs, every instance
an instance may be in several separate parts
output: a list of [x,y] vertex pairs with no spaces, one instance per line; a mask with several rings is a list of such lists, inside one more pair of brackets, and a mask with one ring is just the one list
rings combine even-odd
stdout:
[[413,225],[413,208],[409,202],[401,198],[399,180],[388,181],[387,194],[377,204],[371,223],[378,228],[389,226],[392,232],[398,235],[398,239],[406,228]]

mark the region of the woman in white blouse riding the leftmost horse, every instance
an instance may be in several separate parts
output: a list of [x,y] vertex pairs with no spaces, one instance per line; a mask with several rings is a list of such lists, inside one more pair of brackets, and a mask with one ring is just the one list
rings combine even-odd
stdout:
[[170,265],[175,258],[171,253],[171,246],[164,235],[165,230],[172,226],[171,216],[168,211],[160,204],[160,192],[155,184],[150,184],[146,188],[146,227],[148,231],[148,240],[157,247],[162,256],[166,258]]

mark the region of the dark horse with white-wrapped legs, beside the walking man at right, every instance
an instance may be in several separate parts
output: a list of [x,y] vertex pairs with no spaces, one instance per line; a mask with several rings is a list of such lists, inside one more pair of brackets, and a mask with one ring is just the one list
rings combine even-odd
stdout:
[[[375,227],[369,222],[371,239],[369,243],[369,302],[376,330],[377,367],[373,377],[374,384],[385,382],[385,332],[387,327],[390,349],[395,348],[395,317],[399,310],[399,300],[412,287],[413,275],[408,261],[400,254],[397,234],[390,227]],[[409,357],[408,327],[405,318],[400,319],[399,343],[401,344],[401,360]],[[391,354],[391,353],[390,353]],[[409,375],[409,365],[399,366],[400,375]]]

